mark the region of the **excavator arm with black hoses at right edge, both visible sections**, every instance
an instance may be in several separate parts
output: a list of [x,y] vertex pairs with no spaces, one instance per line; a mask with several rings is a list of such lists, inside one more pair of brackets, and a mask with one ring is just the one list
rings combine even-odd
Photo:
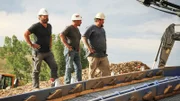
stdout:
[[[143,5],[147,7],[151,7],[161,12],[177,15],[180,17],[180,5],[169,2],[168,0],[137,0],[137,1],[139,1],[140,3],[142,3]],[[171,24],[166,28],[161,38],[161,43],[160,43],[160,46],[159,46],[159,49],[155,58],[155,62],[152,68],[154,68],[154,65],[158,59],[158,56],[160,56],[158,67],[159,68],[164,67],[168,60],[168,57],[170,55],[174,42],[180,41],[180,32],[175,32],[175,26],[180,26],[180,25]]]

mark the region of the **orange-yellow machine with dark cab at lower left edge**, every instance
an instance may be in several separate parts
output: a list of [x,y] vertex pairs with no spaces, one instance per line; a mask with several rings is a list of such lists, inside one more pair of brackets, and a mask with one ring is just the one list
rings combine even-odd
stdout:
[[0,74],[0,89],[14,88],[19,85],[19,80],[12,74]]

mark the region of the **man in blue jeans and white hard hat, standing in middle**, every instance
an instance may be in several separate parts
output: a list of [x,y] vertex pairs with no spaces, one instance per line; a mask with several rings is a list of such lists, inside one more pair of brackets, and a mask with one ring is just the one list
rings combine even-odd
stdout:
[[72,15],[71,20],[72,24],[67,26],[62,33],[60,33],[61,41],[64,44],[64,56],[66,59],[65,84],[71,83],[73,64],[76,81],[82,80],[82,65],[79,55],[81,34],[78,29],[78,26],[82,23],[82,17],[75,13]]

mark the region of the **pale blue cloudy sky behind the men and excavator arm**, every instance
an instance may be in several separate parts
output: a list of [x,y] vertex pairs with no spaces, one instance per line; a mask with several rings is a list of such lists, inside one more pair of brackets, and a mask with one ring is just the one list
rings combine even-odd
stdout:
[[[179,0],[169,2],[180,5]],[[70,25],[74,13],[83,18],[79,27],[83,34],[94,24],[96,13],[103,12],[110,63],[142,61],[152,67],[165,29],[171,23],[180,23],[180,17],[146,7],[136,0],[1,0],[0,46],[5,36],[16,35],[24,40],[24,32],[38,22],[37,13],[41,8],[49,12],[53,34]],[[168,66],[180,65],[179,51],[180,42],[175,42]]]

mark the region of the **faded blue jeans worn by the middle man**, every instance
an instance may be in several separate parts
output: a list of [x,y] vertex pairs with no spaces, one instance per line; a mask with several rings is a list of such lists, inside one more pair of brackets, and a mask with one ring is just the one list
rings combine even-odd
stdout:
[[66,59],[66,70],[64,83],[69,84],[71,82],[71,71],[74,66],[75,78],[77,81],[82,81],[82,65],[80,60],[79,52],[70,51],[65,55]]

